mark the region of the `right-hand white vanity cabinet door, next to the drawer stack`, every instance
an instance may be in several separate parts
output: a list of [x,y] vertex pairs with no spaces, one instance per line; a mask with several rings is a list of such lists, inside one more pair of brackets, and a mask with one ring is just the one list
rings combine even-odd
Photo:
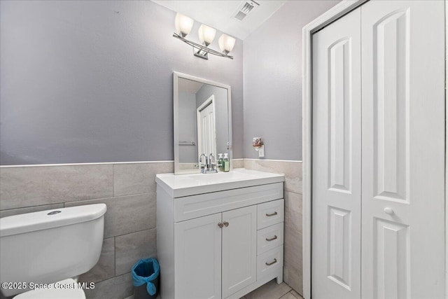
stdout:
[[223,213],[223,298],[257,279],[257,207]]

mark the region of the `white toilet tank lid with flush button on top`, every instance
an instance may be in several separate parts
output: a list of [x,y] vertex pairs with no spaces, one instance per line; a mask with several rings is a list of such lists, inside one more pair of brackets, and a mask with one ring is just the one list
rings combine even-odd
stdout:
[[87,204],[0,218],[0,237],[91,221],[103,216],[106,209],[106,204]]

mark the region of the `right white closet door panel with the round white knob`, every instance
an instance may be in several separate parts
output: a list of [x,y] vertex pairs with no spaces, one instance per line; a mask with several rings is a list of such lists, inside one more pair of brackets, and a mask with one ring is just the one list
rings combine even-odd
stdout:
[[362,298],[444,298],[444,1],[361,22]]

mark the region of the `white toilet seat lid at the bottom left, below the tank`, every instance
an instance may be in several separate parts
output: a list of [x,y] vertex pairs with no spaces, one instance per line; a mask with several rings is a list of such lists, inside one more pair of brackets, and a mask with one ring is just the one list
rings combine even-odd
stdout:
[[64,279],[51,284],[50,288],[38,288],[16,295],[13,299],[85,299],[85,293],[82,288],[56,288],[58,285],[76,285],[73,279]]

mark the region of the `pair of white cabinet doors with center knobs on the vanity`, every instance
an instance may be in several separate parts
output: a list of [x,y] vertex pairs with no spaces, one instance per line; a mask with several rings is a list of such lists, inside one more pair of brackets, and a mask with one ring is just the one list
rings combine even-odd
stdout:
[[256,217],[256,207],[250,206],[176,223],[176,294],[221,298],[222,293],[227,298],[253,284],[257,277]]

